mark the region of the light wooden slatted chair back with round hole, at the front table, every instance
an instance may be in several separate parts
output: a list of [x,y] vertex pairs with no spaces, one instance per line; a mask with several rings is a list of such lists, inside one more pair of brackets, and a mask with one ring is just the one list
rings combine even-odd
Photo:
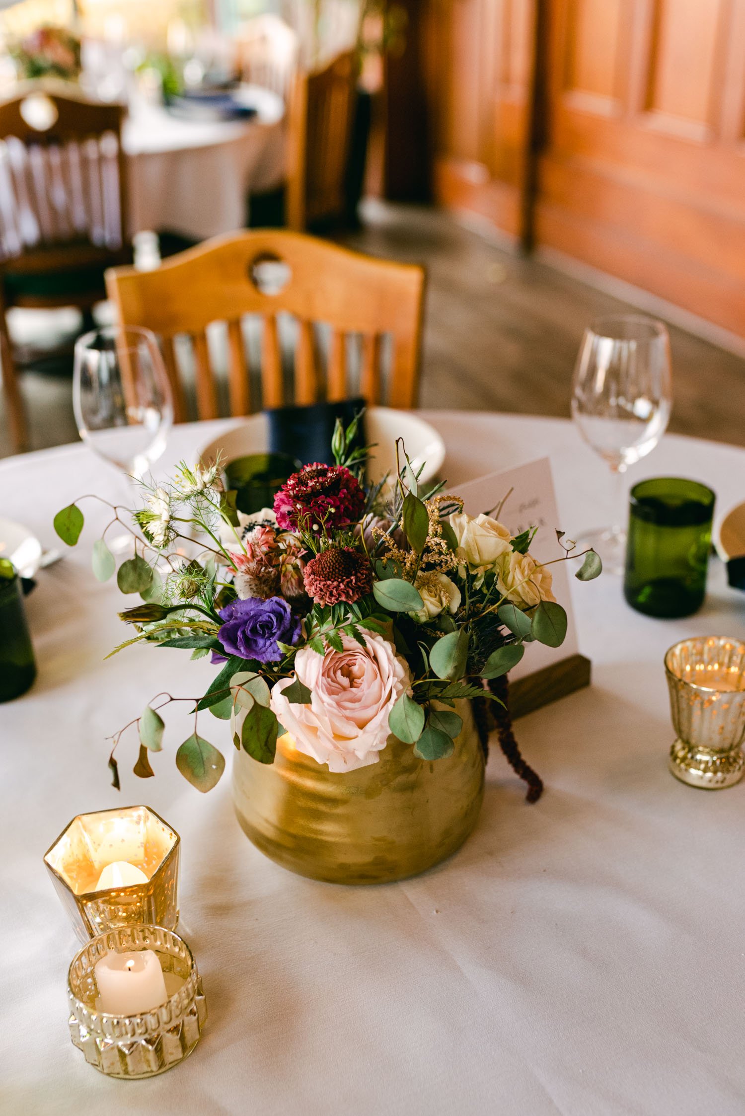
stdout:
[[[267,269],[280,278],[284,275],[286,286],[267,289]],[[228,324],[233,415],[290,402],[315,403],[325,396],[342,400],[360,394],[370,403],[383,402],[385,335],[393,343],[387,402],[395,407],[414,406],[424,283],[424,269],[416,264],[371,259],[287,230],[216,237],[172,257],[155,271],[115,268],[106,273],[109,297],[120,323],[146,326],[162,339],[177,422],[187,417],[174,348],[177,335],[191,340],[199,417],[219,416],[205,334],[206,326],[214,321]],[[293,392],[287,394],[278,329],[280,314],[292,315],[298,324],[294,385]],[[244,315],[259,315],[262,319],[261,400],[257,406],[252,406],[251,398],[242,328]],[[327,360],[321,359],[319,352],[317,323],[331,328]],[[349,383],[348,348],[354,350],[354,343],[347,344],[348,335],[361,335],[359,388]],[[290,394],[293,398],[288,397]]]

